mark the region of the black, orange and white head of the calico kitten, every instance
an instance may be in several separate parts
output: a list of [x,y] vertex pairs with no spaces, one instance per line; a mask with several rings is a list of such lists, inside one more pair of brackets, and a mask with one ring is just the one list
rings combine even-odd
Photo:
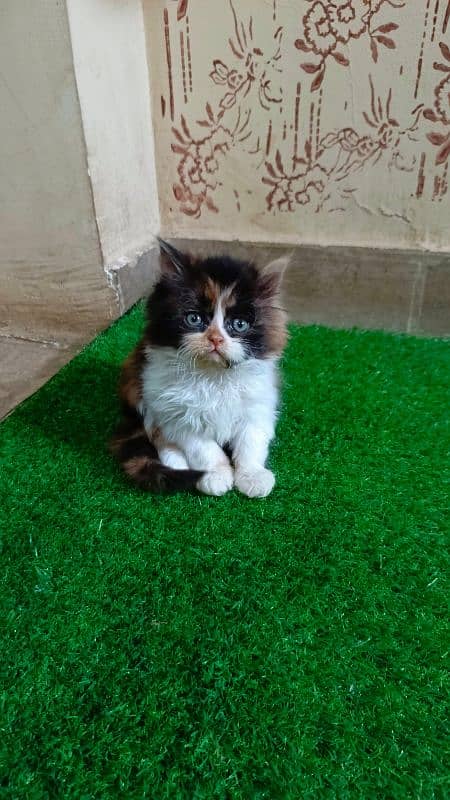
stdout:
[[279,266],[261,274],[231,258],[192,261],[164,242],[161,248],[162,277],[148,302],[153,345],[218,369],[281,353]]

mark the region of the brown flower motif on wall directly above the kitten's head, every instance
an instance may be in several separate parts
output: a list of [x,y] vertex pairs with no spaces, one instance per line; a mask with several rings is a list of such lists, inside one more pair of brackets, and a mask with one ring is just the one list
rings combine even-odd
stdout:
[[194,138],[183,115],[181,130],[172,128],[175,142],[172,151],[180,156],[178,163],[178,183],[173,184],[173,193],[180,203],[180,210],[190,217],[198,218],[203,206],[217,213],[217,206],[212,200],[212,193],[220,185],[219,168],[223,157],[240,142],[249,132],[246,130],[250,114],[241,124],[241,115],[232,130],[221,124],[220,117],[215,117],[211,106],[206,106],[207,119],[202,120],[209,132],[203,138]]

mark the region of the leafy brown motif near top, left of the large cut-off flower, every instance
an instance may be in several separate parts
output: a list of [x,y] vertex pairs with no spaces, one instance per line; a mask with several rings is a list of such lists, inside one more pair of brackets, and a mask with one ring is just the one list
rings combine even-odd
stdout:
[[248,26],[245,27],[237,18],[234,6],[230,0],[234,20],[234,37],[228,42],[236,58],[239,68],[230,69],[223,61],[216,59],[210,78],[214,83],[225,86],[227,91],[220,100],[220,113],[232,108],[236,103],[242,102],[253,87],[257,88],[260,105],[269,110],[271,103],[281,103],[281,87],[274,89],[274,73],[281,72],[278,61],[281,58],[281,36],[283,29],[277,28],[274,33],[274,51],[268,56],[260,47],[255,47],[253,42],[253,18],[250,17]]

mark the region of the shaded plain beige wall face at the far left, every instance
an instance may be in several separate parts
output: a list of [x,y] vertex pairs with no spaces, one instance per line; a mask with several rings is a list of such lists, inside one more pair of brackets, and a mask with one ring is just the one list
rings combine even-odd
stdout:
[[70,337],[111,319],[116,302],[101,260],[63,4],[2,2],[0,75],[0,333]]

